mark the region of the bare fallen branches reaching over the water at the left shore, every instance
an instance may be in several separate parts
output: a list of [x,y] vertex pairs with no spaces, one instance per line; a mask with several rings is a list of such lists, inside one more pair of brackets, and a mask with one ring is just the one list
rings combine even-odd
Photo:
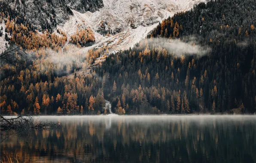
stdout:
[[16,118],[4,118],[0,115],[1,130],[26,130],[26,129],[51,129],[61,127],[60,123],[35,121],[34,116],[18,116]]

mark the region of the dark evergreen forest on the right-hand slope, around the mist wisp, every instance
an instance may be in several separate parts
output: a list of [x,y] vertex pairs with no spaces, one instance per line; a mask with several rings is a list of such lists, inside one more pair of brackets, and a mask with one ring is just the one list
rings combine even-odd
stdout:
[[[121,100],[128,114],[255,112],[255,9],[255,0],[217,0],[162,21],[148,40],[108,57],[97,69],[103,81],[108,78],[104,94],[113,106]],[[177,57],[150,43],[154,37],[186,36],[212,51]]]

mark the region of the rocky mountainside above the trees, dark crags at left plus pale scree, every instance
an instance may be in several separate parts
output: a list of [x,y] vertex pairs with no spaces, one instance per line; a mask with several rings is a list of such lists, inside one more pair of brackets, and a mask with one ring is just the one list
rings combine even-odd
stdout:
[[59,28],[68,39],[79,28],[90,27],[95,44],[81,51],[108,46],[113,52],[133,47],[162,20],[203,1],[206,0],[3,0],[0,6],[13,17],[24,17],[23,24],[32,23],[39,31],[49,29],[56,33]]

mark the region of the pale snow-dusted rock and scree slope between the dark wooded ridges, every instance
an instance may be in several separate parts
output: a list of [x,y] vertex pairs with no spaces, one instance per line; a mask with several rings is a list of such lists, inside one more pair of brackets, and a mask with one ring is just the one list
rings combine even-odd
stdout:
[[[73,15],[65,24],[58,25],[68,36],[79,28],[90,27],[94,31],[96,44],[86,47],[113,45],[113,50],[133,47],[147,36],[159,22],[176,12],[186,11],[205,0],[103,0],[104,7],[96,12],[80,13],[72,10]],[[104,36],[109,31],[110,36]]]

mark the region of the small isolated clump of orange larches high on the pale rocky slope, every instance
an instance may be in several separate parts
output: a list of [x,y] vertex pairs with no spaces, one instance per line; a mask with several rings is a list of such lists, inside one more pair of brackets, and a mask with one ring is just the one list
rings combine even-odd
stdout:
[[86,30],[80,29],[76,31],[76,34],[70,36],[69,42],[77,45],[78,47],[85,46],[88,42],[94,42],[95,37],[93,31],[90,28]]

